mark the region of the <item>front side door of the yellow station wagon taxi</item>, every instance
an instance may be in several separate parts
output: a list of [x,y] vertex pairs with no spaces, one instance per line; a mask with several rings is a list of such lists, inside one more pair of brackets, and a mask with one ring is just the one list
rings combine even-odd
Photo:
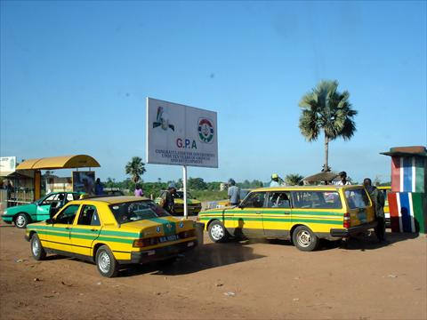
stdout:
[[236,228],[244,236],[263,236],[262,211],[266,192],[253,192],[248,195],[245,201],[234,212],[234,222]]

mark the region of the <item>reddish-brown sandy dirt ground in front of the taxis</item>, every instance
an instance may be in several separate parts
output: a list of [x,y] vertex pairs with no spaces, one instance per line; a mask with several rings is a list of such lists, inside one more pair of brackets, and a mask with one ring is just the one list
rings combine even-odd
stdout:
[[299,252],[286,241],[205,244],[117,278],[93,264],[33,260],[0,226],[1,319],[426,319],[426,237],[389,234]]

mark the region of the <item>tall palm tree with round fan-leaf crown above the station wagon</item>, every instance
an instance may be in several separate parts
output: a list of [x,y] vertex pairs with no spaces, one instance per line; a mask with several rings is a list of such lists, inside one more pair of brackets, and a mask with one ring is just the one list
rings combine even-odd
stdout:
[[358,111],[351,108],[348,91],[338,92],[338,82],[321,81],[318,86],[302,96],[300,107],[300,130],[308,141],[318,140],[321,132],[325,136],[324,171],[330,171],[328,166],[329,141],[342,137],[350,138],[356,132],[353,116]]

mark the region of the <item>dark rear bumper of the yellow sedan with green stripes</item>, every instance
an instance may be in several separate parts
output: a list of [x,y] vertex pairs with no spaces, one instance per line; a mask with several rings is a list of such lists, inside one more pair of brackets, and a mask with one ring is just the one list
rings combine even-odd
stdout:
[[158,260],[173,258],[179,253],[194,249],[197,240],[189,240],[181,244],[167,245],[165,247],[146,250],[143,252],[131,252],[131,260],[118,261],[119,263],[147,263]]

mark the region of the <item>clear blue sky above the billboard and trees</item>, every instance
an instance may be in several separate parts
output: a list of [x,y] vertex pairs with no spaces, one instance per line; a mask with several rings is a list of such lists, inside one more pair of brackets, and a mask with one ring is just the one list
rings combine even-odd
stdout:
[[[218,113],[219,168],[190,177],[270,180],[321,169],[298,102],[336,79],[359,111],[329,162],[390,180],[391,147],[427,143],[426,2],[0,3],[0,156],[88,154],[125,179],[145,155],[146,97]],[[144,180],[181,167],[147,164]],[[57,172],[59,175],[65,175]]]

